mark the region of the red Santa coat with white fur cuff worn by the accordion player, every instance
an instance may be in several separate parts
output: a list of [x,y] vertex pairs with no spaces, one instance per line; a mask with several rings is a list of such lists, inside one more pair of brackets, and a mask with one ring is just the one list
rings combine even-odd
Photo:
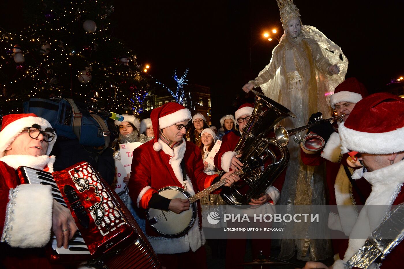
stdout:
[[50,186],[20,185],[15,170],[21,165],[42,169],[54,161],[54,156],[0,158],[0,263],[5,268],[54,268],[41,248],[49,242],[52,227]]

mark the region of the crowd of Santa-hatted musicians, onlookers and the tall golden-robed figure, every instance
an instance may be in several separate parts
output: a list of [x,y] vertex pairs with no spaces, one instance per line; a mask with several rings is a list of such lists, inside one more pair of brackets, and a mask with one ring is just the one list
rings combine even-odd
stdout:
[[[315,27],[302,25],[299,9],[291,0],[278,0],[278,5],[285,33],[270,63],[242,89],[249,92],[260,87],[265,96],[295,113],[296,118],[276,122],[286,129],[305,126],[307,120],[316,122],[321,116],[329,118],[332,111],[342,121],[320,120],[305,131],[318,137],[321,146],[316,149],[307,148],[304,139],[289,143],[288,166],[248,204],[253,208],[265,205],[272,208],[272,213],[279,204],[288,212],[295,210],[293,206],[332,206],[325,217],[328,228],[324,227],[332,231],[331,240],[309,237],[310,225],[285,223],[287,233],[299,229],[307,236],[282,238],[279,258],[307,261],[305,269],[328,268],[319,261],[329,257],[334,259],[330,268],[335,269],[399,268],[404,244],[398,237],[384,238],[387,241],[383,249],[379,245],[370,248],[369,244],[374,241],[372,233],[391,218],[392,206],[404,202],[404,99],[385,92],[368,95],[356,78],[345,78],[347,59],[341,48]],[[195,195],[219,181],[225,187],[240,183],[242,176],[236,171],[245,166],[241,161],[245,153],[234,150],[240,137],[250,135],[244,128],[251,122],[254,108],[255,104],[242,104],[234,115],[221,118],[219,129],[209,126],[207,115],[191,116],[191,111],[178,103],[154,108],[150,118],[141,121],[125,114],[123,121],[115,121],[112,127],[118,132],[116,141],[91,157],[99,163],[97,168],[104,170],[106,182],[114,184],[111,163],[121,161],[119,146],[141,143],[133,151],[131,172],[124,176],[119,195],[162,267],[207,268],[204,228],[213,225],[207,221],[209,212],[204,208],[227,204],[221,189],[204,195],[195,205],[185,196],[167,197],[162,190],[171,186]],[[70,210],[55,202],[50,185],[21,184],[16,172],[19,166],[54,171],[58,156],[52,156],[51,151],[58,137],[53,127],[33,113],[3,117],[0,256],[5,268],[63,268],[50,263],[44,246],[54,235],[57,247],[67,248],[80,227]],[[268,130],[269,137],[274,135]],[[59,153],[60,145],[52,152]],[[217,145],[220,148],[214,151]],[[272,162],[267,158],[259,169]],[[361,209],[362,205],[365,207]],[[168,212],[176,218],[190,208],[194,211],[193,225],[178,236],[166,236],[153,226],[153,220],[147,221],[146,211],[150,209],[160,210],[167,220]],[[322,208],[325,213],[326,207]],[[404,231],[400,225],[398,221],[395,229]],[[367,240],[370,237],[373,241]],[[213,252],[226,249],[226,268],[242,268],[246,243],[246,239],[227,239],[225,244],[207,241]],[[274,245],[271,239],[252,239],[252,258],[268,257]],[[380,254],[382,258],[368,259]]]

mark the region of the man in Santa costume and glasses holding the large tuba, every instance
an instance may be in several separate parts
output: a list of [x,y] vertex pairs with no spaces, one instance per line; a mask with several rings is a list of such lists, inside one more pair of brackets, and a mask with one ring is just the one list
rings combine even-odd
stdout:
[[[238,124],[239,131],[231,131],[223,136],[222,145],[215,155],[214,164],[219,170],[228,172],[229,170],[241,169],[243,164],[238,160],[241,154],[234,151],[240,136],[243,133],[243,128],[246,126],[248,120],[254,109],[253,104],[243,104],[234,113],[234,118]],[[266,167],[267,164],[265,164]],[[249,203],[252,206],[263,205],[266,202],[270,204],[276,204],[280,197],[280,189],[285,180],[286,169],[278,176],[274,183],[267,188],[265,193],[258,199],[251,199]],[[266,207],[265,210],[270,209]],[[257,209],[259,210],[259,209]],[[265,212],[274,213],[274,212]],[[251,214],[251,213],[249,213]],[[244,262],[244,252],[246,250],[246,239],[228,239],[227,251],[226,251],[226,268],[242,268],[240,265]],[[269,256],[271,254],[271,239],[252,239],[252,254],[253,259],[257,258],[258,254],[262,251],[262,254]],[[234,256],[237,252],[238,255]]]

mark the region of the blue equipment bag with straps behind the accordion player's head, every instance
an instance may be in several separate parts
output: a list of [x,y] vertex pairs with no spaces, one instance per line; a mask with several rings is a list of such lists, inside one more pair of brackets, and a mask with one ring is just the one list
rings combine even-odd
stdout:
[[109,145],[107,122],[99,115],[79,109],[73,99],[32,98],[24,102],[24,113],[34,113],[48,120],[56,134],[78,139],[79,144],[103,149]]

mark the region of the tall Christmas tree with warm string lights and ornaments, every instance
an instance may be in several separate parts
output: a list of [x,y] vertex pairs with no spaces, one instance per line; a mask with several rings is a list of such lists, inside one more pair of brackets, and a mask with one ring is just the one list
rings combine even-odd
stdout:
[[22,113],[29,98],[89,101],[97,93],[98,107],[107,111],[143,111],[150,91],[145,67],[113,36],[110,1],[42,0],[26,7],[29,26],[20,33],[0,28],[0,116]]

